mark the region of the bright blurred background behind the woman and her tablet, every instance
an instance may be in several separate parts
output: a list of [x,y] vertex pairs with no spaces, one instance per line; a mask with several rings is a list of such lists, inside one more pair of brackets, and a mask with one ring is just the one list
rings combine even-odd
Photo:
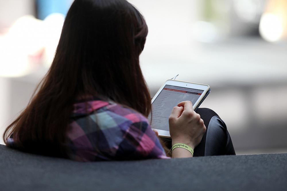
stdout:
[[[48,71],[72,0],[0,0],[0,134]],[[286,0],[130,0],[149,27],[141,68],[153,96],[175,75],[205,83],[201,107],[239,155],[287,153]],[[3,144],[3,140],[0,140]]]

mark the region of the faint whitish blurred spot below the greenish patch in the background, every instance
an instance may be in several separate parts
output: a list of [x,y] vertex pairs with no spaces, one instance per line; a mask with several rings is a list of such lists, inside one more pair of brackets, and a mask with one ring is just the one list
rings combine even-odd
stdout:
[[215,42],[218,38],[218,31],[214,24],[197,21],[193,25],[193,37],[199,42],[212,43]]

